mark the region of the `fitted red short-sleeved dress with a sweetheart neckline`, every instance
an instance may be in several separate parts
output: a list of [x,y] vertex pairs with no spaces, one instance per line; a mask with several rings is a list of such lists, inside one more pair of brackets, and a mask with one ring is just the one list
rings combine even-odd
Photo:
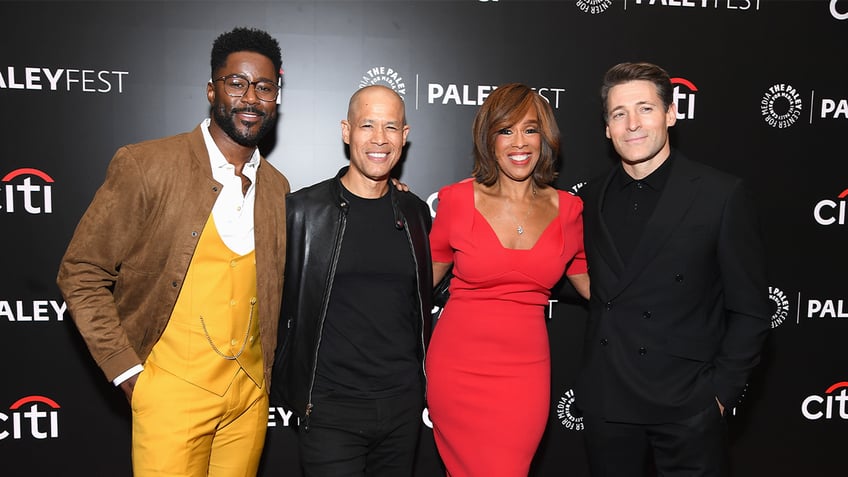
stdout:
[[550,408],[545,312],[563,273],[586,272],[582,201],[530,250],[504,248],[474,206],[471,180],[439,191],[433,260],[453,262],[450,299],[427,350],[427,403],[451,477],[526,476]]

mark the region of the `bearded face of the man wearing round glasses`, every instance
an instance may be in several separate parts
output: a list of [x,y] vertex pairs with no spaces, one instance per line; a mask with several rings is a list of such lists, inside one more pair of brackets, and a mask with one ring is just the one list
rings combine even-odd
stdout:
[[[274,64],[259,53],[239,51],[227,57],[226,64],[215,71],[215,77],[242,75],[249,81],[268,80],[277,82]],[[223,81],[210,82],[206,87],[206,96],[212,105],[212,123],[210,131],[216,136],[215,129],[223,132],[227,138],[244,147],[256,147],[259,141],[273,127],[277,117],[276,101],[262,101],[256,97],[253,86],[244,96],[229,96],[224,91]],[[223,135],[219,135],[223,138]]]

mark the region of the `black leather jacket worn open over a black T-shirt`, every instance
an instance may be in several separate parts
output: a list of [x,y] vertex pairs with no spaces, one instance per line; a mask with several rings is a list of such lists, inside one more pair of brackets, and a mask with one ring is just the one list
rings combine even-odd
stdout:
[[[318,349],[347,222],[349,204],[340,182],[345,172],[347,167],[333,179],[286,197],[286,274],[271,399],[294,411],[305,420],[305,426],[312,410]],[[432,217],[427,204],[414,194],[391,185],[389,194],[395,226],[406,230],[416,264],[419,359],[424,376],[424,352],[432,332],[433,269],[428,237]]]

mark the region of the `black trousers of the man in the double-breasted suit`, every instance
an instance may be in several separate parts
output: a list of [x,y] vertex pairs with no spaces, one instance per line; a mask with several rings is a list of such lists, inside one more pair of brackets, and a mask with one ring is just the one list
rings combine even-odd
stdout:
[[727,423],[718,404],[663,424],[583,415],[592,477],[727,477]]

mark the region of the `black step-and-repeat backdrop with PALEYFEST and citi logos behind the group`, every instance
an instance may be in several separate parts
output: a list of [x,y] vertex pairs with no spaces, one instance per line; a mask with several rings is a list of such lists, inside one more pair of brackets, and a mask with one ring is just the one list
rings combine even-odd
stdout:
[[[550,102],[556,185],[577,190],[615,163],[603,73],[665,67],[673,145],[742,176],[766,234],[772,333],[729,417],[735,475],[844,474],[848,0],[349,0],[0,2],[0,475],[130,475],[128,405],[89,357],[57,267],[115,149],[207,117],[212,41],[235,26],[282,46],[262,150],[293,189],[345,165],[347,100],[385,84],[411,125],[399,177],[434,210],[435,192],[469,175],[472,118],[499,84]],[[586,311],[548,311],[550,418],[531,475],[586,476],[571,389]],[[271,409],[261,475],[300,475],[296,425]],[[440,473],[424,426],[417,475]]]

